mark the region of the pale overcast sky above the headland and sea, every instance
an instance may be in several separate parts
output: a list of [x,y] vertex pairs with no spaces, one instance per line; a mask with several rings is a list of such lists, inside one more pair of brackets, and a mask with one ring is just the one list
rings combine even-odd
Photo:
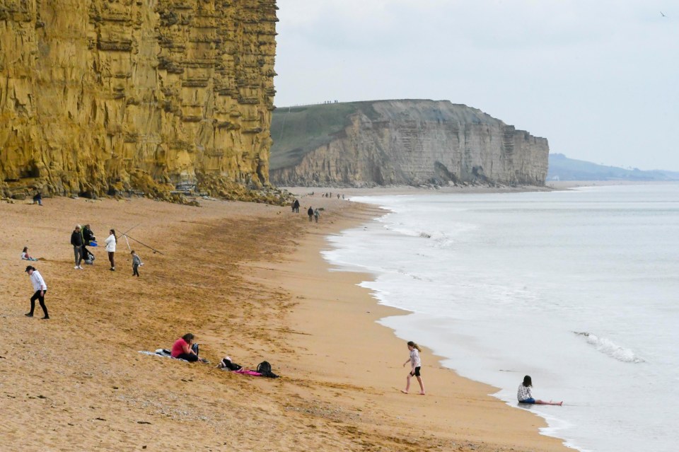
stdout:
[[278,6],[279,107],[451,100],[546,137],[552,153],[679,170],[679,1]]

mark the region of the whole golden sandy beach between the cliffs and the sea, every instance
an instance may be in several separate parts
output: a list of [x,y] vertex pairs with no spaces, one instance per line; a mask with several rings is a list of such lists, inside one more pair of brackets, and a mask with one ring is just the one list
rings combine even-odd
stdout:
[[[300,191],[306,193],[307,189]],[[330,191],[330,190],[327,190]],[[344,192],[344,190],[342,190]],[[325,237],[379,214],[342,199],[289,207],[202,200],[45,199],[0,204],[0,445],[6,451],[562,451],[539,417],[422,354],[427,395],[400,393],[405,343],[375,323],[398,311],[330,271]],[[309,223],[306,208],[324,207]],[[75,224],[100,242],[128,228],[144,261],[132,277],[119,241],[74,270]],[[50,320],[26,318],[28,245],[47,282]],[[208,364],[139,354],[192,332]],[[413,338],[417,340],[417,338]],[[221,357],[279,379],[214,368]],[[417,384],[417,383],[415,383]]]

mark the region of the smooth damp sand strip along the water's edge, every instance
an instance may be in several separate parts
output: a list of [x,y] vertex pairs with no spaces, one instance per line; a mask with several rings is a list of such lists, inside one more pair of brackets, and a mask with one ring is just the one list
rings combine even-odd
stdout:
[[[300,191],[298,187],[294,190]],[[301,204],[318,199],[316,191],[314,197],[300,197]],[[328,202],[327,198],[323,202]],[[304,334],[299,341],[305,351],[300,359],[303,373],[311,374],[313,367],[318,371],[320,356],[337,358],[337,362],[342,364],[340,369],[330,364],[322,368],[321,375],[327,384],[368,388],[374,397],[371,402],[386,399],[390,410],[421,416],[418,430],[422,427],[422,431],[436,437],[439,446],[441,441],[451,447],[472,441],[475,450],[480,451],[497,448],[572,450],[564,446],[563,439],[540,433],[540,429],[547,428],[545,419],[491,395],[497,392],[497,388],[459,376],[454,369],[441,365],[446,358],[434,355],[426,347],[422,352],[422,373],[427,395],[422,398],[417,395],[419,387],[414,380],[410,394],[400,393],[407,373],[399,366],[407,358],[405,341],[397,338],[390,328],[380,325],[378,320],[391,315],[408,315],[410,311],[379,304],[368,289],[358,286],[360,282],[372,279],[372,274],[337,269],[321,254],[323,250],[332,248],[327,236],[361,226],[385,213],[373,205],[352,202],[349,206],[349,215],[345,212],[338,217],[330,216],[330,226],[325,231],[308,233],[308,241],[291,255],[291,262],[274,268],[279,274],[274,278],[276,284],[297,294],[299,304],[291,317],[293,329]],[[323,319],[318,318],[319,312],[325,313]],[[351,325],[351,328],[338,330],[336,323]],[[309,336],[313,340],[305,340]],[[352,347],[354,340],[369,344],[369,347],[357,345],[360,351],[356,352]],[[352,364],[356,358],[359,362]],[[371,363],[374,369],[364,370],[366,362]],[[356,374],[347,375],[345,366],[352,365],[356,366]],[[452,393],[449,392],[451,390]],[[462,408],[448,409],[449,406]],[[354,410],[356,407],[349,402],[347,409]],[[388,414],[381,412],[379,416],[388,417]],[[407,416],[392,417],[391,422],[402,423],[401,428],[405,430],[412,427]],[[458,428],[450,431],[451,425]]]

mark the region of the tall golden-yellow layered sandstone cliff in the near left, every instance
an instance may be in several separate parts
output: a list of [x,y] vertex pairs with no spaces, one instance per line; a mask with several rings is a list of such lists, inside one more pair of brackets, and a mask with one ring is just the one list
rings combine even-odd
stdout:
[[276,0],[3,0],[0,192],[268,183]]

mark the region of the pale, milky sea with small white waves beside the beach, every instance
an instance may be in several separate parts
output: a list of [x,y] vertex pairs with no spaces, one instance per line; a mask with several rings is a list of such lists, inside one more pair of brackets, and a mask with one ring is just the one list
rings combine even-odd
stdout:
[[[397,337],[499,388],[566,446],[678,450],[679,184],[352,201],[384,214],[328,237],[324,257],[409,311],[379,320]],[[524,375],[564,405],[518,405]]]

